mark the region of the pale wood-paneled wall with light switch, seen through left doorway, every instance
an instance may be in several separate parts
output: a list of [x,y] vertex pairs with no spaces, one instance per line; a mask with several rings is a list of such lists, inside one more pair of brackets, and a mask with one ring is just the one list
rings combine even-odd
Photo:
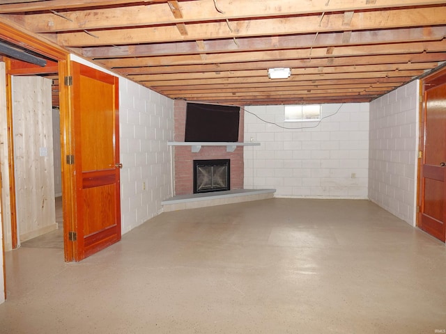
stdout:
[[17,230],[25,241],[57,228],[52,81],[13,77],[12,82]]

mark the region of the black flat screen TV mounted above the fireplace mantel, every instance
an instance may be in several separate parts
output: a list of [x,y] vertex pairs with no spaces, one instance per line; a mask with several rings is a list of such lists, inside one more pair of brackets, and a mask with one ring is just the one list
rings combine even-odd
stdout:
[[240,107],[187,103],[185,141],[236,142]]

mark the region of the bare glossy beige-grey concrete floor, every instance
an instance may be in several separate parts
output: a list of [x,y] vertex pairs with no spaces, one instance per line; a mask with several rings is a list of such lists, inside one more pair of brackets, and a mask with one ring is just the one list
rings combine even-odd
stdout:
[[445,244],[366,200],[168,212],[83,262],[6,253],[0,333],[444,333]]

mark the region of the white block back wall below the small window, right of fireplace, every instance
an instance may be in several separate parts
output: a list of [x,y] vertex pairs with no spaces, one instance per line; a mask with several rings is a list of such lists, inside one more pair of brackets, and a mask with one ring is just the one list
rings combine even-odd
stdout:
[[[247,106],[245,188],[277,197],[367,198],[369,104],[323,104],[323,120],[284,122],[284,106]],[[282,129],[268,122],[284,127]],[[301,128],[301,129],[299,129]]]

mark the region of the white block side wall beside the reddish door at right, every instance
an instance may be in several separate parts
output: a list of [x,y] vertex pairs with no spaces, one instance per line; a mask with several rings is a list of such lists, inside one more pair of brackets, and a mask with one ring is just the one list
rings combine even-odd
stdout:
[[415,225],[419,81],[370,103],[369,199]]

